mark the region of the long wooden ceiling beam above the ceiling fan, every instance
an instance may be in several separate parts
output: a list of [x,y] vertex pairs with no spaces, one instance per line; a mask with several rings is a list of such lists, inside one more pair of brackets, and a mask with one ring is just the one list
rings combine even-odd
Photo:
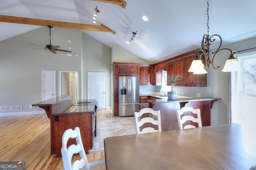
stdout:
[[27,24],[34,26],[53,26],[58,28],[68,28],[68,29],[76,29],[76,30],[88,30],[88,31],[99,31],[99,32],[111,32],[112,34],[116,34],[114,30],[111,30],[107,26],[101,24],[98,25],[90,25],[90,24],[80,24],[73,22],[62,22],[62,21],[52,21],[52,20],[41,20],[34,18],[24,18],[17,16],[5,16],[0,15],[0,22],[8,22],[15,24]]

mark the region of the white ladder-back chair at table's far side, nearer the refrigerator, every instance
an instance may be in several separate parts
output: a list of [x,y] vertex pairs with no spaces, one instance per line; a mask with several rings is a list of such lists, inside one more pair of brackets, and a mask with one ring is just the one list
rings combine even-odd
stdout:
[[[142,117],[143,114],[152,114],[154,117],[157,117],[157,120],[153,119],[152,117]],[[151,133],[151,132],[161,132],[161,116],[160,111],[154,111],[151,108],[143,108],[139,112],[134,112],[134,119],[135,119],[135,127],[136,133]],[[138,120],[140,119],[140,120]],[[158,129],[156,130],[153,127],[142,127],[145,123],[151,123],[152,125],[156,125]]]

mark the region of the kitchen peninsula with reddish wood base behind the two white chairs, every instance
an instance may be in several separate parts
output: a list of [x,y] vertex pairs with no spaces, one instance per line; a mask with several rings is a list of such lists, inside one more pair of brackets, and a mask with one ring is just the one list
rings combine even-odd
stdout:
[[[202,126],[210,126],[212,105],[215,101],[218,100],[220,100],[220,98],[178,96],[176,97],[176,100],[148,99],[147,101],[149,108],[152,108],[155,111],[160,111],[162,131],[168,131],[179,129],[176,110],[180,110],[180,108],[184,106],[200,109]],[[139,105],[141,107],[145,107],[144,103],[140,103]],[[189,114],[192,115],[193,113],[187,113],[187,115]],[[193,125],[193,123],[190,124]]]

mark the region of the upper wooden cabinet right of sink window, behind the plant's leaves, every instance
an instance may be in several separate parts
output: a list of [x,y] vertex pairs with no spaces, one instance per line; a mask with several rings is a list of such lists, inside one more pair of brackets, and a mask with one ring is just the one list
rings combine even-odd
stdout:
[[[178,78],[176,86],[184,86],[184,58],[180,57],[167,62],[167,77],[170,75],[182,75]],[[167,85],[171,85],[167,80]]]

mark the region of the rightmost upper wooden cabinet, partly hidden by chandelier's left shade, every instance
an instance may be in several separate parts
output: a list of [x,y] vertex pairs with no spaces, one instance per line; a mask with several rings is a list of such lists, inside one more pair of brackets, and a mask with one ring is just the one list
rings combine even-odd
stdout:
[[[192,53],[189,53],[184,57],[184,69],[186,73],[184,85],[193,87],[207,87],[207,74],[193,74],[193,72],[188,72],[188,69],[190,68],[191,63],[194,60],[195,55],[196,51],[192,51]],[[203,60],[203,62],[205,61]]]

